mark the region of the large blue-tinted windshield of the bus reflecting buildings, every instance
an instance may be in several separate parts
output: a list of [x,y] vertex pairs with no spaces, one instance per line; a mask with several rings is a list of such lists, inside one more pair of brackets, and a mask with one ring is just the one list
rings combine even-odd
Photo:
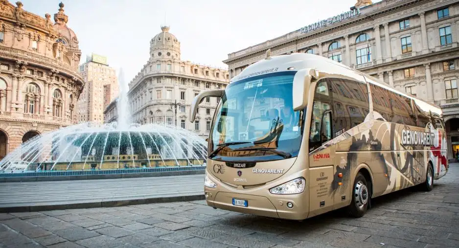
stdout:
[[293,111],[295,71],[236,81],[213,120],[209,158],[266,161],[298,156],[303,111]]

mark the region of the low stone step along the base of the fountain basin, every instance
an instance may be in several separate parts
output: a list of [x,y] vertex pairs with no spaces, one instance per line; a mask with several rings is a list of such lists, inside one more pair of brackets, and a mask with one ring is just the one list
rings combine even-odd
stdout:
[[198,174],[204,174],[204,170],[184,170],[184,171],[167,171],[167,172],[143,172],[143,173],[120,173],[120,174],[99,174],[99,175],[82,175],[82,176],[0,177],[0,182],[148,178],[148,177],[184,176],[184,175],[198,175]]

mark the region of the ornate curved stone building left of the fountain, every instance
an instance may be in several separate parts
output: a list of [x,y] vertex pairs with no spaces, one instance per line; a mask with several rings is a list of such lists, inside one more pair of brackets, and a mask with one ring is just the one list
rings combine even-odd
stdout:
[[58,13],[37,16],[0,0],[0,159],[29,138],[77,120],[83,90],[78,74],[81,51]]

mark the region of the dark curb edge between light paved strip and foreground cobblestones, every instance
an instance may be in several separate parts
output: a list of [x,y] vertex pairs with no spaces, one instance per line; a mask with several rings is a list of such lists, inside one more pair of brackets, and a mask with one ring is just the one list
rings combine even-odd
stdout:
[[38,212],[38,211],[50,211],[50,210],[64,210],[64,209],[75,209],[75,208],[94,208],[94,207],[115,207],[115,206],[127,206],[127,205],[138,205],[138,204],[149,204],[149,203],[172,203],[172,202],[187,202],[187,201],[198,201],[205,200],[204,194],[199,195],[188,195],[188,196],[171,196],[171,197],[152,197],[152,198],[141,198],[141,199],[129,199],[129,200],[115,200],[115,201],[101,201],[101,202],[89,202],[89,203],[70,203],[70,204],[50,204],[50,205],[39,205],[39,206],[11,206],[11,207],[0,207],[0,213],[10,212]]

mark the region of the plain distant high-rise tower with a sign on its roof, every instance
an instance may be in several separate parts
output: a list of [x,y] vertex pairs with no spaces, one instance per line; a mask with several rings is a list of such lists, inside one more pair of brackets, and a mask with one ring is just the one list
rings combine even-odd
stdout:
[[78,99],[78,118],[80,122],[103,123],[105,108],[118,96],[118,80],[115,68],[92,58],[94,55],[79,69],[85,88]]

